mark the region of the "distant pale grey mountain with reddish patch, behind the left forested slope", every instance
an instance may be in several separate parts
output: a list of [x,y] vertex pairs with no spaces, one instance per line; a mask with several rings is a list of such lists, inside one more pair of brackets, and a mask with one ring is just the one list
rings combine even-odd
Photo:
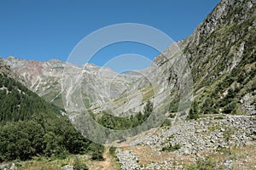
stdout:
[[[68,74],[73,74],[76,78],[84,79],[83,83],[86,83],[86,89],[84,89],[86,90],[84,93],[84,103],[87,107],[115,99],[117,96],[124,93],[125,88],[127,88],[129,84],[136,82],[137,79],[140,78],[137,74],[131,73],[129,76],[118,75],[118,73],[108,68],[99,67],[93,64],[84,65],[84,68],[82,68],[77,65],[61,62],[58,59],[38,62],[34,60],[17,59],[10,56],[5,59],[5,61],[8,65],[11,65],[11,68],[15,70],[20,77],[22,77],[26,87],[30,88],[39,96],[42,96],[47,101],[62,108],[63,96],[61,96],[61,78],[64,76],[64,69],[70,71]],[[81,72],[83,73],[82,75]],[[78,75],[81,75],[82,77],[78,77]],[[114,82],[112,82],[113,77],[116,77]],[[72,89],[78,88],[78,83],[80,82],[72,84]],[[114,86],[111,94],[106,91],[106,86]],[[94,90],[95,88],[97,88],[97,90]],[[72,91],[70,93],[74,92]]]

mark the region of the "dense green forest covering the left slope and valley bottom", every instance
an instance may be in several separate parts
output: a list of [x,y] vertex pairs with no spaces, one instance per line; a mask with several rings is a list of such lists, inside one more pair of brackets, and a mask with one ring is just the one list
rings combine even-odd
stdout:
[[84,153],[102,159],[104,147],[84,139],[63,113],[20,82],[0,74],[0,162]]

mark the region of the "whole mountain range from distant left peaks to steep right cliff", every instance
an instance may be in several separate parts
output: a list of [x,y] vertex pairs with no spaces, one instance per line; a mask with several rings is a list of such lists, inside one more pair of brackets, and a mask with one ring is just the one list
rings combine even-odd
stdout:
[[[239,110],[255,114],[248,104],[253,103],[250,93],[255,87],[254,9],[254,1],[222,1],[191,36],[172,44],[154,59],[152,66],[136,71],[137,74],[120,75],[91,64],[82,68],[57,59],[38,62],[9,57],[6,62],[33,92],[61,107],[64,99],[70,111],[77,105],[77,99],[70,96],[83,83],[84,105],[96,113],[131,115],[143,111],[148,99],[154,100],[161,112],[172,112],[172,105],[178,105],[178,101],[170,102],[173,99],[194,98],[181,89],[194,89],[201,113]],[[68,94],[62,96],[61,77],[65,69],[71,72],[65,72],[71,74],[69,78],[77,80],[73,80]],[[236,94],[232,102],[225,97],[229,89]],[[225,106],[233,108],[232,111]]]

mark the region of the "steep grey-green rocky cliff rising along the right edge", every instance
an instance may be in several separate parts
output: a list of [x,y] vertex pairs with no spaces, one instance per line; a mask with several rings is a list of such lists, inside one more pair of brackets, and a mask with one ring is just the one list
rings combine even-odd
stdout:
[[[255,3],[222,1],[183,41],[183,54],[191,66],[201,112],[223,111],[232,103],[234,112],[255,114],[255,107],[248,111],[243,102],[253,104],[255,100]],[[227,94],[232,94],[233,99],[228,99]]]

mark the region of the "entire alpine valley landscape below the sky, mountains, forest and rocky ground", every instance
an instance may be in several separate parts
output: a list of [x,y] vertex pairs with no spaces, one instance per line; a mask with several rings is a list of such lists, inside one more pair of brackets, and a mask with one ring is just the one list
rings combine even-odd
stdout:
[[[255,5],[222,0],[142,71],[0,59],[0,169],[255,169]],[[165,120],[104,147],[69,114],[78,91],[105,127],[136,127],[153,110]]]

